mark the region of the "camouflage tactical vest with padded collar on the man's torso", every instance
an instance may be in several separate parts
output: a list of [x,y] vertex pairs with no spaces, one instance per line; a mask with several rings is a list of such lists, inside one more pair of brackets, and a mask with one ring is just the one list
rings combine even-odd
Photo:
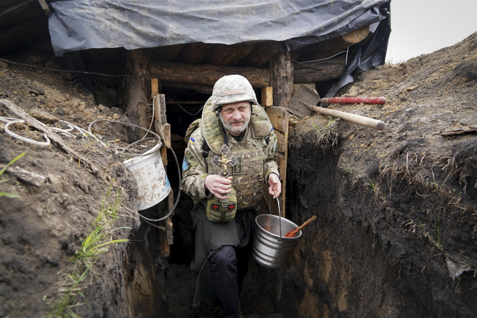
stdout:
[[[216,113],[210,109],[211,100],[206,102],[202,111],[200,129],[204,136],[204,143],[207,143],[211,151],[206,158],[209,173],[218,174],[221,167],[213,166],[210,160],[220,156],[220,147],[224,145],[224,137],[220,130],[219,119]],[[250,124],[245,131],[240,142],[229,136],[231,148],[228,157],[235,155],[239,163],[234,167],[229,167],[232,178],[232,186],[237,192],[238,209],[246,209],[257,206],[262,196],[262,186],[264,180],[264,163],[267,158],[268,135],[272,131],[272,125],[266,112],[260,105],[252,105]]]

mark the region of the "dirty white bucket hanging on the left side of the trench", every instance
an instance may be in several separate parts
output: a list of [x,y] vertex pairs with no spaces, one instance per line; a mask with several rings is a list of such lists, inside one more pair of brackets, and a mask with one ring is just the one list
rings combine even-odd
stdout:
[[158,204],[170,192],[170,183],[160,157],[160,144],[143,155],[124,161],[138,183],[138,211]]

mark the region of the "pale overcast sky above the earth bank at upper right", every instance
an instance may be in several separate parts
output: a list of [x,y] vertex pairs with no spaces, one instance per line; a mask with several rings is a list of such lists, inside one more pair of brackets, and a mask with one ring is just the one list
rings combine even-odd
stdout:
[[391,0],[387,63],[452,46],[477,31],[477,0]]

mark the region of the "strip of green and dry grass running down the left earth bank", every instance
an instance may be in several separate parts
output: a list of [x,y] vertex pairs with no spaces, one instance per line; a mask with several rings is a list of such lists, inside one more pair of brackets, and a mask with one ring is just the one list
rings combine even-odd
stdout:
[[[79,318],[80,316],[75,313],[74,309],[81,299],[89,307],[82,290],[87,284],[94,281],[92,273],[94,264],[102,253],[109,250],[111,244],[128,241],[128,239],[112,239],[117,230],[131,230],[131,228],[113,228],[113,223],[118,218],[122,195],[119,190],[113,194],[111,189],[112,187],[109,188],[107,197],[102,200],[101,210],[91,224],[89,233],[81,240],[81,245],[75,256],[70,259],[76,265],[75,269],[67,275],[66,281],[61,285],[59,297],[48,313],[48,318]],[[114,197],[111,198],[112,196]]]

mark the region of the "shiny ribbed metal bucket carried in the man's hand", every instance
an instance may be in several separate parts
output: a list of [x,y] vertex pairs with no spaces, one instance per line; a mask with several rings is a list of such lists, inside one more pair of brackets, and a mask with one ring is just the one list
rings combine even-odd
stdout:
[[293,238],[285,238],[285,234],[298,228],[298,225],[288,219],[271,214],[257,215],[255,224],[253,259],[258,264],[272,269],[285,265],[288,254],[296,247],[298,239],[302,237],[302,231],[300,230]]

